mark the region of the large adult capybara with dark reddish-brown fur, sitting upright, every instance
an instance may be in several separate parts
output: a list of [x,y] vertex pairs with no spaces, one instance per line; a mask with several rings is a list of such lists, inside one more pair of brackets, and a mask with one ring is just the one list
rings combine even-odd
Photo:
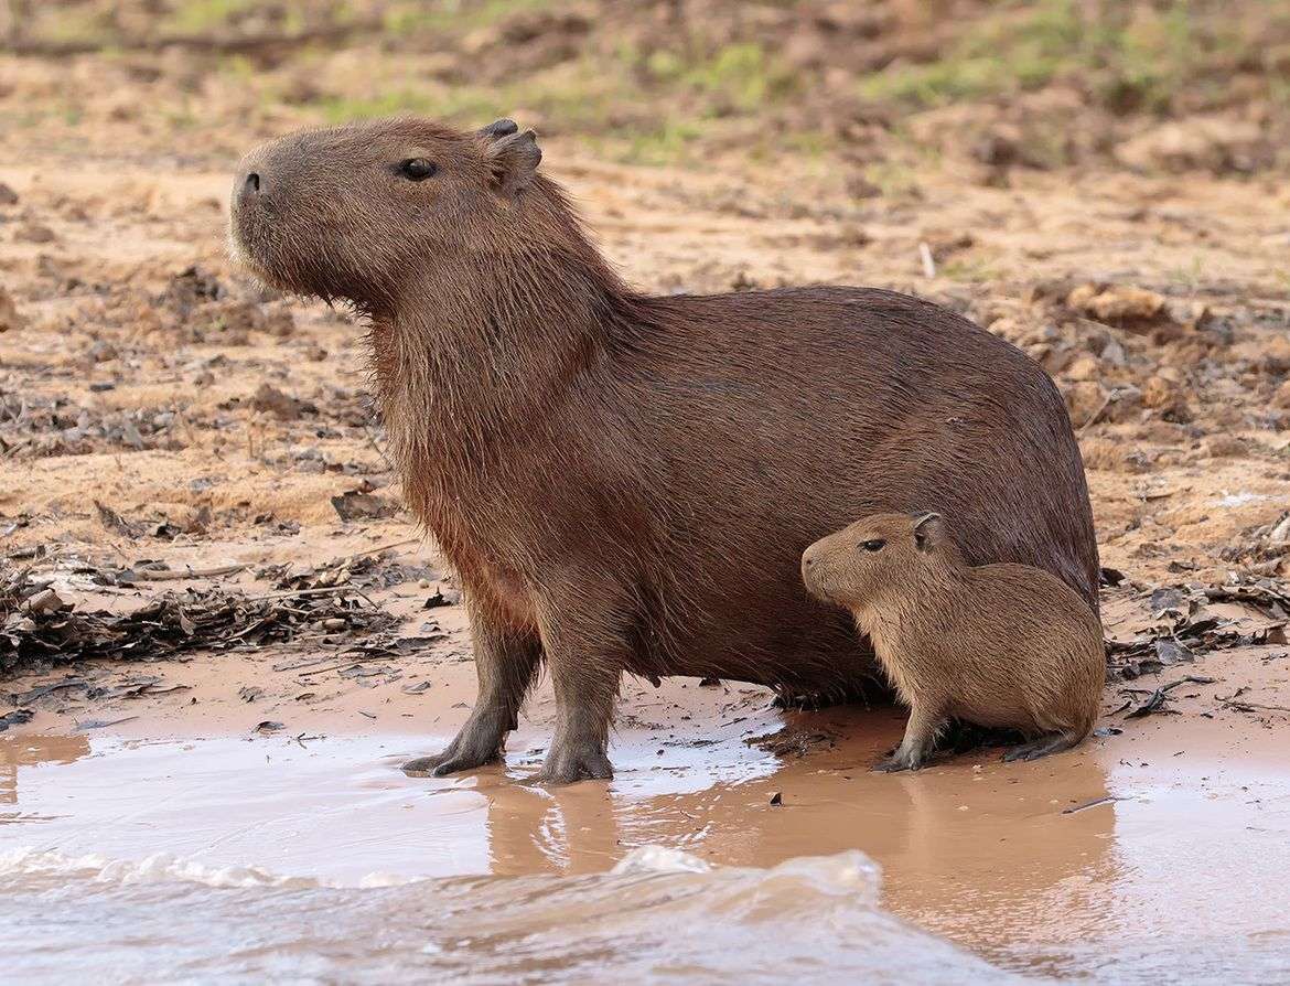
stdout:
[[268,143],[233,187],[253,271],[370,321],[408,503],[462,579],[479,701],[410,772],[497,759],[543,661],[552,782],[611,774],[624,671],[854,690],[872,658],[799,561],[876,511],[943,510],[969,561],[1095,601],[1080,452],[1023,354],[886,290],[635,292],[541,157],[508,120],[387,120]]

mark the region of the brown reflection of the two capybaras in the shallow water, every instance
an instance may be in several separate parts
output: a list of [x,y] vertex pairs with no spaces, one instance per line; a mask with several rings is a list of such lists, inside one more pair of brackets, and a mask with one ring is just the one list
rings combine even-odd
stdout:
[[[1116,810],[1080,808],[1108,790],[1090,747],[1036,764],[982,752],[889,776],[868,765],[898,737],[898,715],[800,714],[788,729],[837,738],[769,765],[738,742],[707,747],[722,780],[695,785],[703,770],[694,769],[681,791],[668,772],[649,768],[651,750],[617,750],[619,776],[609,786],[541,791],[519,783],[519,772],[480,776],[491,870],[596,872],[645,844],[762,867],[860,849],[886,872],[889,907],[974,946],[1001,924],[1014,943],[1064,941],[1103,915],[1098,896],[1116,879]],[[771,804],[777,794],[780,805]]]

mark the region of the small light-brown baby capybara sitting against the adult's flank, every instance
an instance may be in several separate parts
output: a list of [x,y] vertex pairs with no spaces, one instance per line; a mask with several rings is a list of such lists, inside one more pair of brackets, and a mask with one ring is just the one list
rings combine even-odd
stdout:
[[939,514],[857,520],[802,552],[802,581],[851,610],[909,706],[880,770],[917,770],[951,718],[1024,733],[1006,760],[1067,750],[1098,718],[1107,658],[1089,604],[1031,565],[968,564]]

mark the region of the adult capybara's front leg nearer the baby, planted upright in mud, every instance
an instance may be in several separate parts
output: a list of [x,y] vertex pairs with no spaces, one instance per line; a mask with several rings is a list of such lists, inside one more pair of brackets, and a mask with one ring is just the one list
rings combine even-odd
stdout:
[[626,643],[608,627],[543,627],[543,648],[556,693],[556,730],[538,774],[541,783],[609,780],[609,724],[614,718]]

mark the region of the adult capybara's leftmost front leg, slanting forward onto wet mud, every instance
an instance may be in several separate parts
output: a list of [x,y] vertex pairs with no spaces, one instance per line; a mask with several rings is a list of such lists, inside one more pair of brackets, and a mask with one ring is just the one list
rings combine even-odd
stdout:
[[537,634],[504,630],[470,601],[467,610],[479,676],[475,709],[444,752],[404,764],[410,777],[444,777],[501,759],[506,734],[519,724],[520,706],[537,678],[542,659]]

